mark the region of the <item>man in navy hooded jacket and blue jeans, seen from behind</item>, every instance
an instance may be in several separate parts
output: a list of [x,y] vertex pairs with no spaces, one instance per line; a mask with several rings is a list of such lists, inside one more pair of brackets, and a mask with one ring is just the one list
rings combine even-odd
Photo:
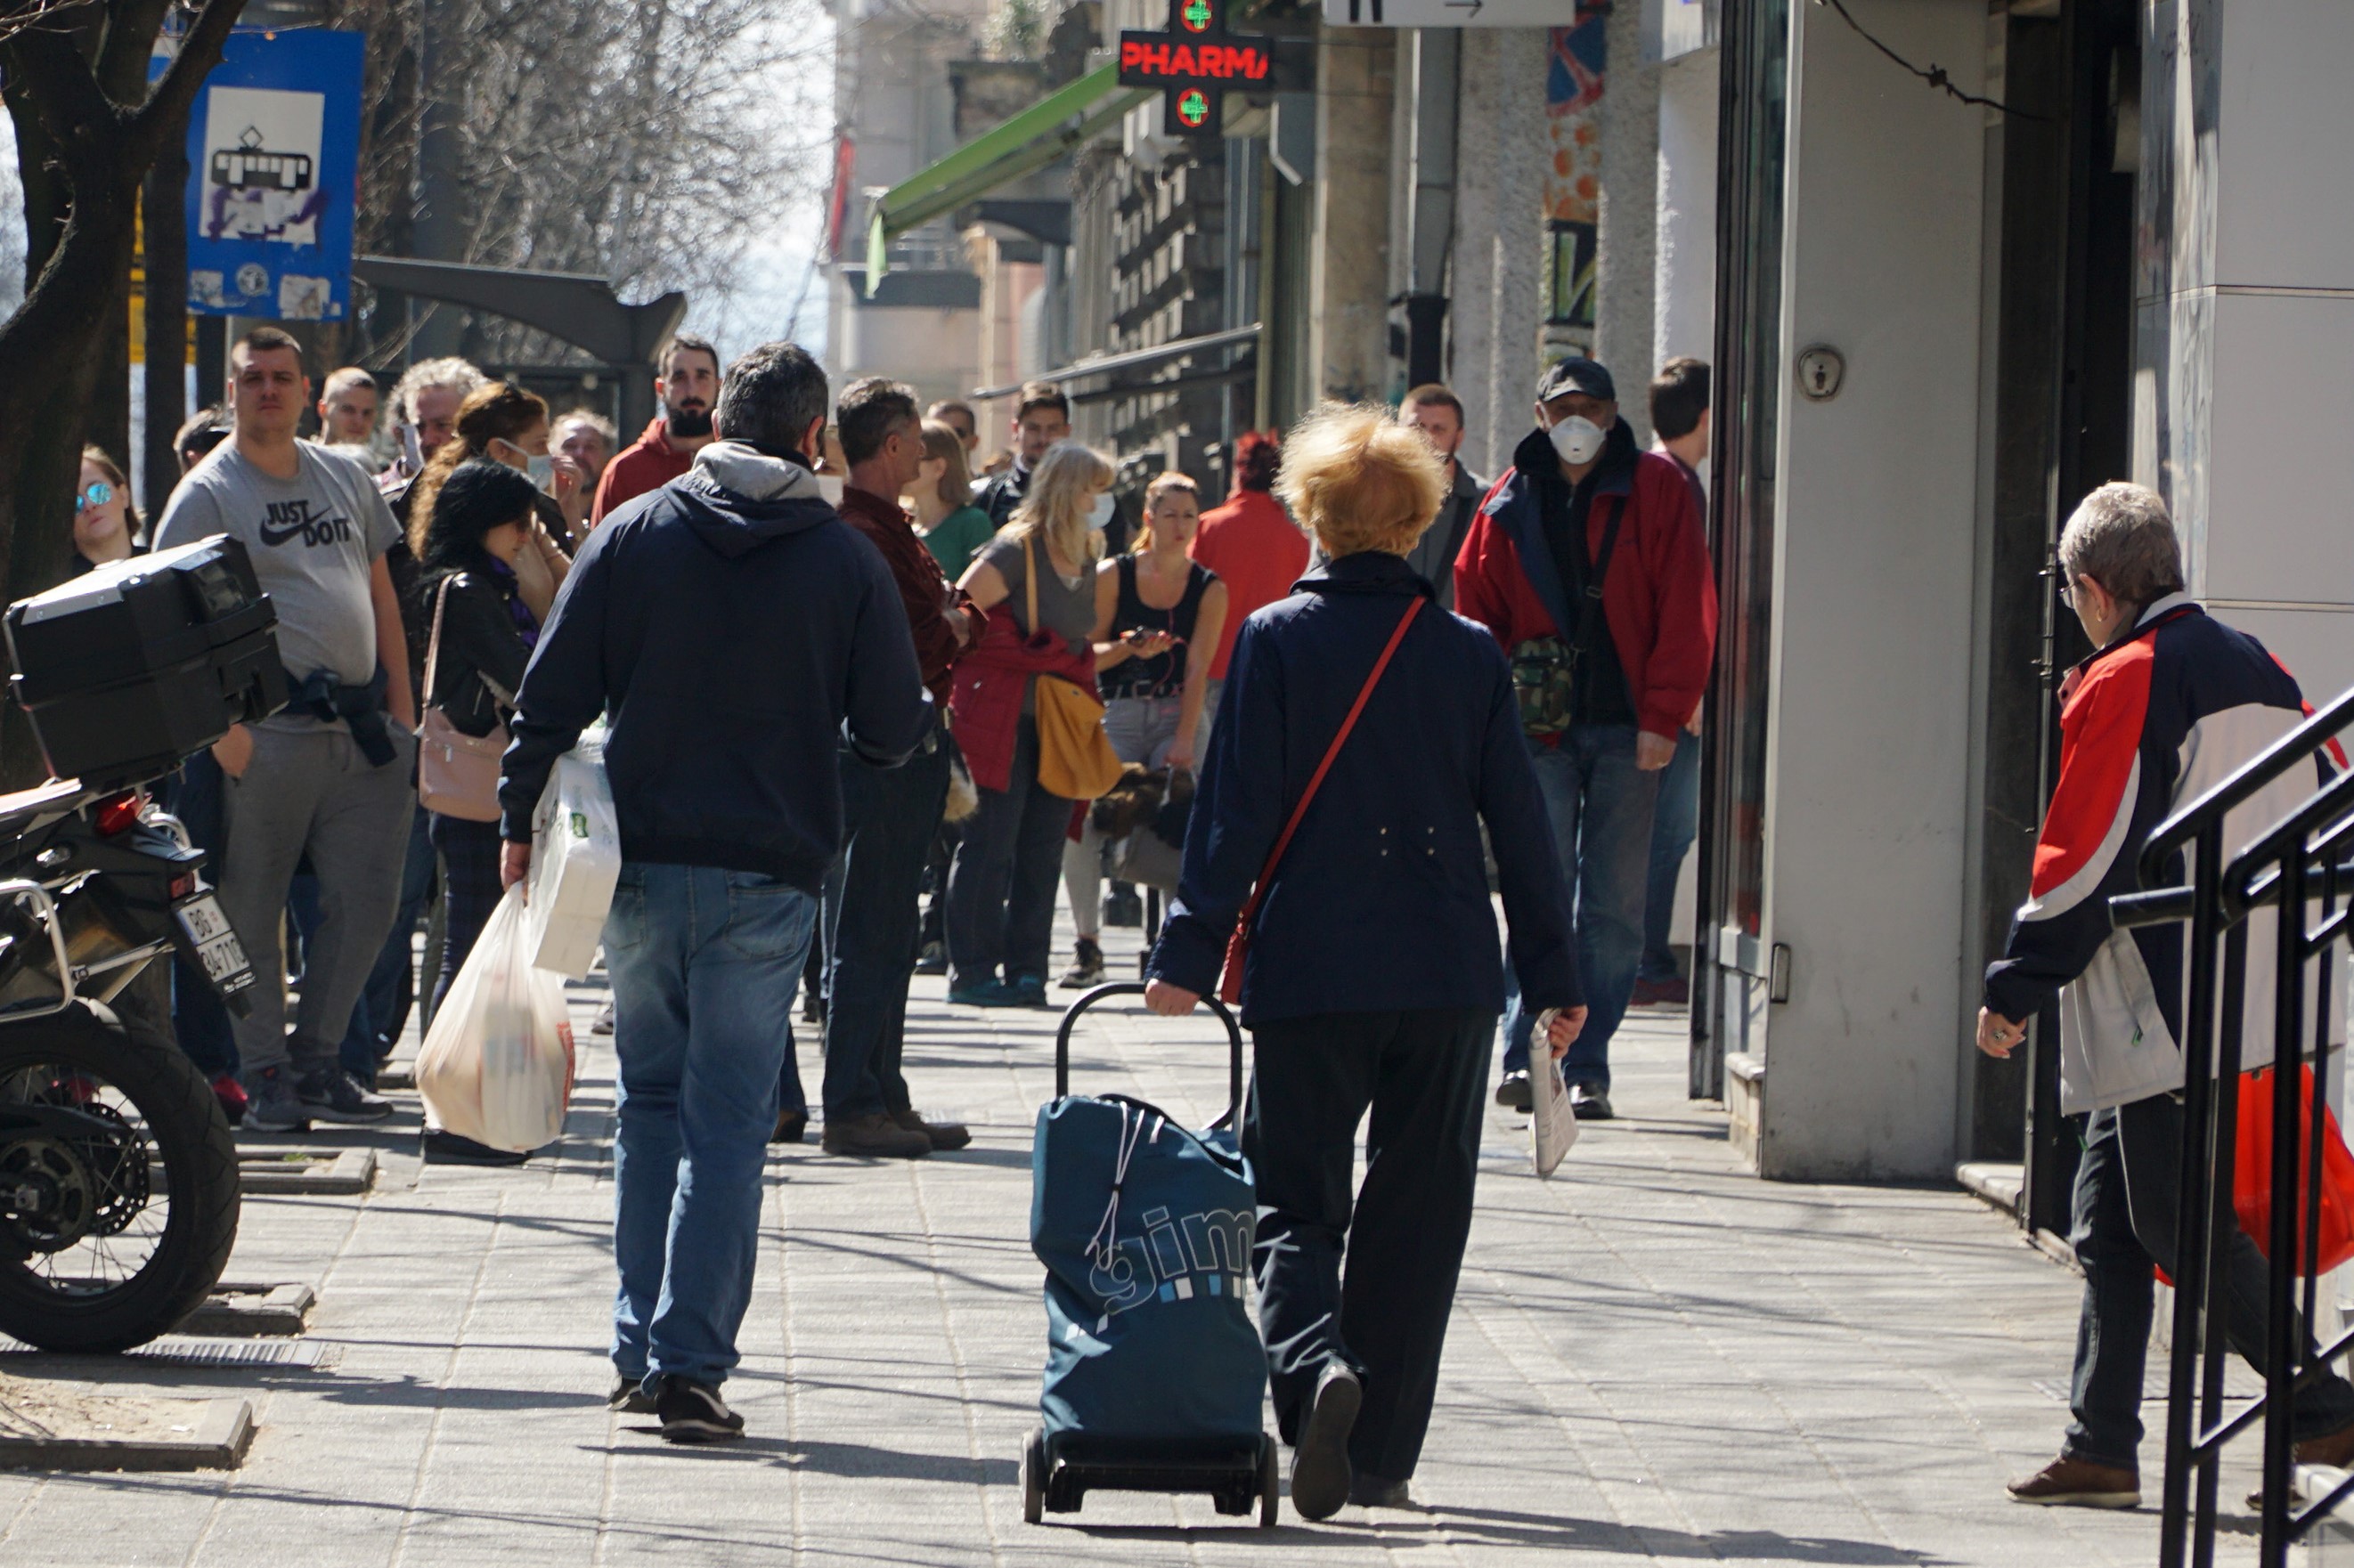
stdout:
[[817,492],[824,426],[826,372],[798,346],[727,367],[718,440],[588,534],[499,784],[513,885],[548,770],[610,716],[612,1403],[683,1443],[744,1431],[720,1382],[751,1302],[793,986],[840,850],[836,751],[897,765],[932,727],[890,567]]

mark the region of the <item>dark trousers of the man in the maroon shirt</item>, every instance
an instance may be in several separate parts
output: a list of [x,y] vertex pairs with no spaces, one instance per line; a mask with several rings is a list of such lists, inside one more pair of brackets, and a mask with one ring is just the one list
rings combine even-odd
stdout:
[[838,892],[826,888],[829,1123],[909,1109],[899,1055],[916,972],[916,897],[949,798],[949,749],[937,730],[925,744],[902,768],[869,768],[843,753],[843,878]]

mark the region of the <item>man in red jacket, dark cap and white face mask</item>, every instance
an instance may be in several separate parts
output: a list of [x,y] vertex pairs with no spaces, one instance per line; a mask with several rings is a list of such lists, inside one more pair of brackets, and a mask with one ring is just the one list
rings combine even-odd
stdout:
[[[1693,487],[1638,452],[1610,372],[1537,381],[1511,454],[1455,558],[1455,612],[1511,657],[1521,727],[1577,904],[1587,1029],[1561,1062],[1580,1118],[1610,1116],[1610,1036],[1643,958],[1650,815],[1716,655],[1716,579]],[[1504,1012],[1497,1104],[1528,1109],[1528,1010]]]

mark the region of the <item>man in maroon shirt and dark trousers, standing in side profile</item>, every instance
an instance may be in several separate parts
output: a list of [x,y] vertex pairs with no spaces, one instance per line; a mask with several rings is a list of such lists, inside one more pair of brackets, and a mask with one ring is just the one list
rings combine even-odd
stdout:
[[916,972],[916,895],[932,831],[949,796],[949,666],[979,629],[979,610],[949,586],[899,492],[923,466],[916,393],[869,377],[843,388],[833,410],[843,459],[843,520],[866,534],[906,600],[916,664],[932,690],[935,730],[899,768],[843,751],[843,876],[826,911],[833,958],[826,982],[826,1154],[918,1156],[963,1149],[965,1128],[927,1123],[909,1104],[899,1050],[906,984]]

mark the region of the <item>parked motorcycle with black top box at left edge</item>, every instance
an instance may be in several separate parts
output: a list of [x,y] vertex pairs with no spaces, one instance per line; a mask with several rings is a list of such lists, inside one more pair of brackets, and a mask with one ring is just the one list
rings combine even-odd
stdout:
[[54,775],[0,796],[0,1333],[26,1344],[144,1344],[235,1243],[238,1147],[151,970],[184,956],[233,1012],[257,977],[148,786],[285,706],[275,622],[226,537],[7,607]]

